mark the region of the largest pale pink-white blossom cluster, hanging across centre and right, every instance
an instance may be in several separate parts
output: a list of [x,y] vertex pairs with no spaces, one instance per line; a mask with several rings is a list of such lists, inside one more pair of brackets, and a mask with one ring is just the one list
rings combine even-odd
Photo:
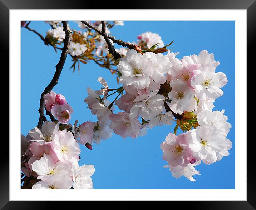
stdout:
[[[232,146],[226,138],[232,126],[224,110],[212,112],[227,77],[215,72],[220,63],[207,50],[182,59],[176,58],[177,54],[128,50],[117,65],[123,87],[111,89],[99,77],[102,89],[88,87],[84,102],[108,136],[114,132],[134,139],[145,135],[148,127],[171,125],[176,119],[175,134],[168,134],[161,144],[163,159],[168,162],[165,167],[176,178],[184,175],[195,181],[192,176],[199,172],[194,166],[221,160]],[[111,91],[122,96],[110,103]],[[122,111],[115,114],[114,103]],[[178,127],[187,132],[176,136]]]

